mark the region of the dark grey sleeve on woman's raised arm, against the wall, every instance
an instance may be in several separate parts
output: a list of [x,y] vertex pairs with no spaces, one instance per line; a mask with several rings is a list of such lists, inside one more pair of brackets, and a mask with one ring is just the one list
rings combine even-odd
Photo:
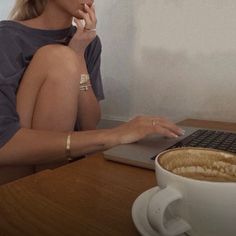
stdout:
[[92,88],[98,101],[104,99],[102,76],[101,76],[101,52],[102,44],[97,36],[85,51],[85,60],[90,75]]

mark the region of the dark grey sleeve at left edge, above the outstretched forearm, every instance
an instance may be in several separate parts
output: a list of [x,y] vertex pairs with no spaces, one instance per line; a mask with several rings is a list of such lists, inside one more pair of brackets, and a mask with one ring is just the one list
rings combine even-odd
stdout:
[[21,76],[14,39],[0,30],[0,148],[20,129],[16,90]]

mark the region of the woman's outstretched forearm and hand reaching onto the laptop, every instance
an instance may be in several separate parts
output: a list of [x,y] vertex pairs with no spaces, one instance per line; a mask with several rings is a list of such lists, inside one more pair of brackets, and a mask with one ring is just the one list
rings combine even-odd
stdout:
[[[182,135],[183,131],[166,119],[140,116],[112,129],[73,132],[71,157],[106,150],[119,144],[133,143],[152,134],[176,138]],[[67,137],[68,132],[22,128],[0,149],[0,166],[65,161]]]

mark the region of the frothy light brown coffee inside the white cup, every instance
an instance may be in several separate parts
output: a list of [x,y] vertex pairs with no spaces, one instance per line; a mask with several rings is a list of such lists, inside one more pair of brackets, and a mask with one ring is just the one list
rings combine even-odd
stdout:
[[236,182],[236,155],[211,149],[176,149],[160,156],[166,170],[188,178]]

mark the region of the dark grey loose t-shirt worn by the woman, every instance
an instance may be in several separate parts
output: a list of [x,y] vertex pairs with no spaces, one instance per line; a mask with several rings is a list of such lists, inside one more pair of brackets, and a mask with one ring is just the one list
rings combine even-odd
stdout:
[[[75,32],[75,26],[40,30],[15,21],[0,22],[0,147],[20,129],[16,93],[34,53],[48,44],[67,45]],[[104,99],[100,58],[101,42],[96,37],[85,51],[85,61],[98,100]]]

